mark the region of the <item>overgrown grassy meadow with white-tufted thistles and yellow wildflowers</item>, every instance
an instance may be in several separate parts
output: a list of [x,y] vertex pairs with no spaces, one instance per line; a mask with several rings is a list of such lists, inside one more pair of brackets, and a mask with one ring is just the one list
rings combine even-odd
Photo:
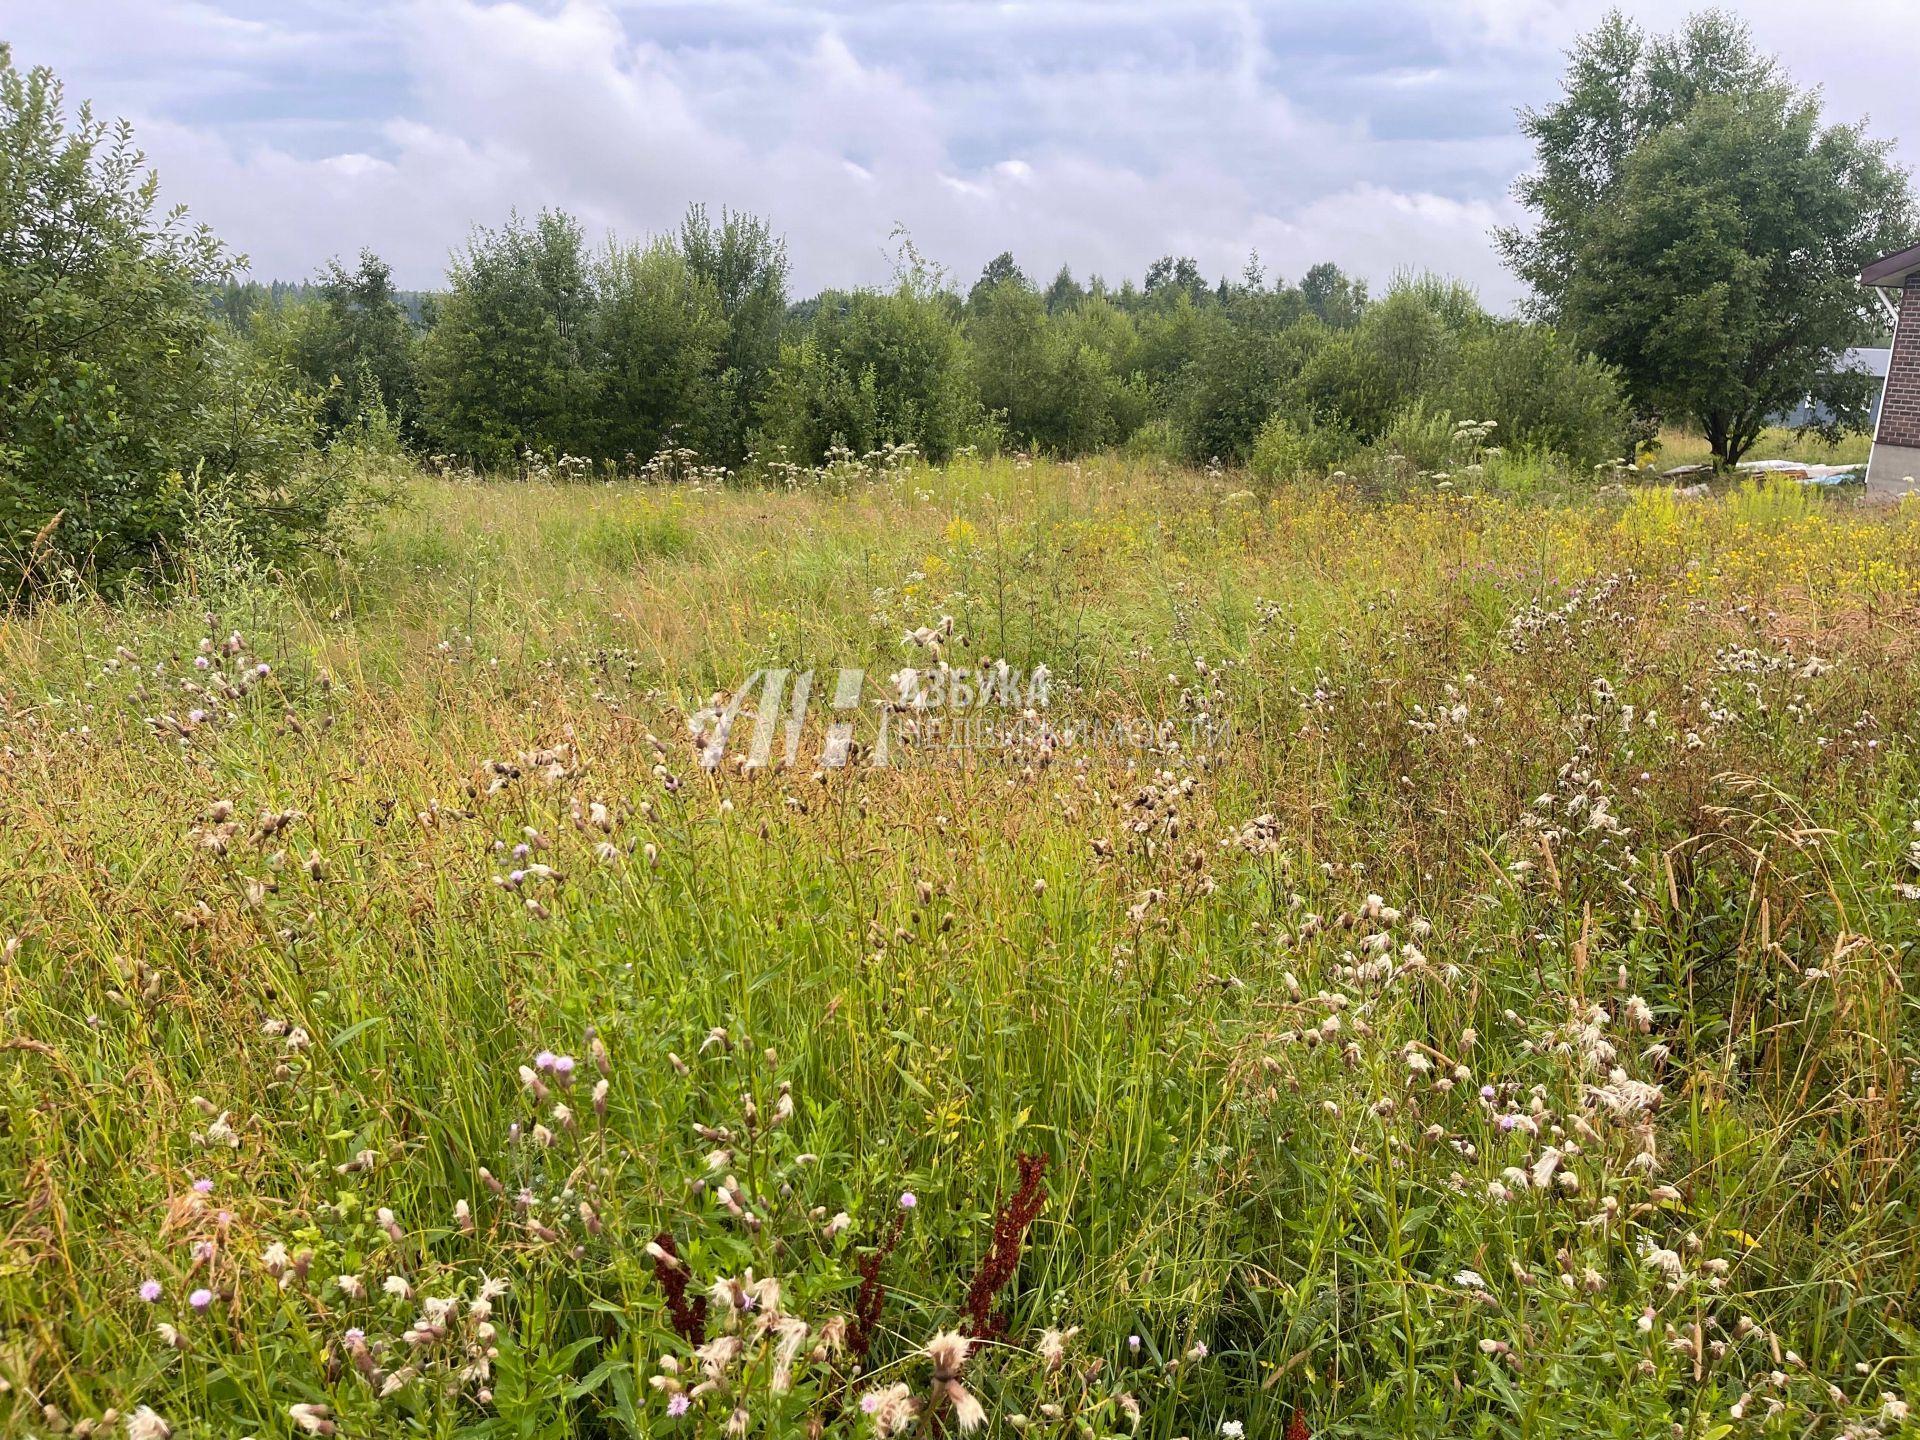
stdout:
[[0,1430],[1912,1434],[1920,509],[1236,486],[8,620]]

